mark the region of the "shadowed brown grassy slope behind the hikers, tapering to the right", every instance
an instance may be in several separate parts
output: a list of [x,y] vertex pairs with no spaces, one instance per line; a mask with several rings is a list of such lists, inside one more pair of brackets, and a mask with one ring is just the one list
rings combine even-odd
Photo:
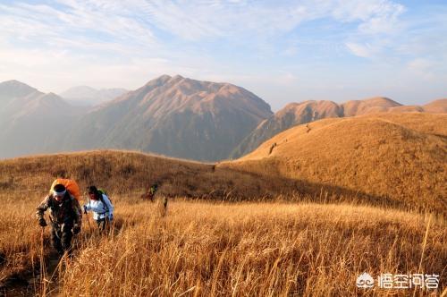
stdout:
[[[0,161],[0,189],[9,193],[46,195],[58,177],[72,178],[81,192],[96,184],[113,195],[133,199],[157,183],[158,196],[216,200],[271,200],[342,202],[409,208],[357,189],[325,182],[297,180],[273,174],[275,167],[257,163],[245,168],[157,157],[131,151],[97,150],[71,154],[21,157]],[[272,171],[274,170],[274,171]]]

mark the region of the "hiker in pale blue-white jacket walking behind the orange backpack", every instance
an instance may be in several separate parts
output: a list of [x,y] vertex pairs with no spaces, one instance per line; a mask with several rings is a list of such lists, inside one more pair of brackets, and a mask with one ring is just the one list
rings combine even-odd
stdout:
[[104,231],[114,220],[114,206],[104,191],[96,186],[89,186],[89,203],[84,205],[84,213],[93,211],[93,219],[97,222],[99,230]]

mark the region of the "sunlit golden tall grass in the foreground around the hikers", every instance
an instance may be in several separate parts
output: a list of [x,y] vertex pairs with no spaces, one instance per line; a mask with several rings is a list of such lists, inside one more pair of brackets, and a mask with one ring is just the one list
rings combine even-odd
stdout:
[[[40,197],[0,197],[3,284],[38,274]],[[105,295],[408,295],[358,289],[363,272],[439,274],[447,281],[443,218],[350,204],[211,202],[171,199],[167,211],[133,196],[113,196],[114,231],[94,232],[84,216],[72,260],[41,285],[4,285],[5,293]],[[47,228],[46,228],[47,229]],[[45,233],[46,258],[50,255]],[[53,276],[53,277],[51,277]],[[36,276],[34,276],[36,277]],[[20,278],[20,277],[19,277]],[[28,280],[29,281],[29,280]],[[9,291],[8,291],[9,290]],[[14,291],[15,290],[15,291]],[[25,290],[25,291],[23,291]]]

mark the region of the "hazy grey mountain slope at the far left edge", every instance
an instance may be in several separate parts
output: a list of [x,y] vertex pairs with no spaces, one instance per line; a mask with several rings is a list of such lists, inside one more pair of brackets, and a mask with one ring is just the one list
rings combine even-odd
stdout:
[[0,98],[0,157],[60,150],[64,132],[81,113],[20,81],[0,83]]

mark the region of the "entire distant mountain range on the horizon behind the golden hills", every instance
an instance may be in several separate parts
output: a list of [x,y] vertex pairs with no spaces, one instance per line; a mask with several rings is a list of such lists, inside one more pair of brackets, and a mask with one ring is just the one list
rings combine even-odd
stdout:
[[[96,106],[74,106],[118,96]],[[377,112],[447,112],[447,99],[402,106],[389,98],[337,104],[305,101],[273,113],[255,94],[229,83],[163,75],[139,89],[77,87],[42,93],[20,81],[0,83],[0,157],[124,148],[169,157],[216,161],[243,156],[300,123]]]

